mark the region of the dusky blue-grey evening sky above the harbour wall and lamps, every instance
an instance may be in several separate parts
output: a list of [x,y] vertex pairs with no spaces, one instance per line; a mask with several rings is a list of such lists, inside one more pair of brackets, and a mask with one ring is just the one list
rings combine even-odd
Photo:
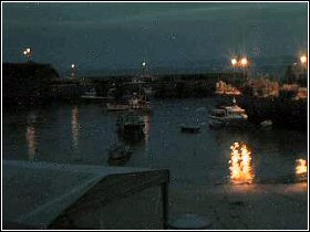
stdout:
[[3,62],[51,63],[61,73],[204,68],[232,54],[307,52],[307,3],[3,3]]

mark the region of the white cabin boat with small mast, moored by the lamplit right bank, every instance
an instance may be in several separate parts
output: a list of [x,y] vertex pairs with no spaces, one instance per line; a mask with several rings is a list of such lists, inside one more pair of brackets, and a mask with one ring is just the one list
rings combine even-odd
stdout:
[[246,125],[248,120],[246,110],[236,104],[235,97],[232,103],[232,106],[220,106],[210,112],[210,127],[241,127]]

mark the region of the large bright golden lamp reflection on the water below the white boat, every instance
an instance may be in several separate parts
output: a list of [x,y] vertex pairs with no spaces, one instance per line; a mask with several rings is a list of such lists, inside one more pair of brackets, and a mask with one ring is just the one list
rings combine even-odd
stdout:
[[246,144],[234,143],[230,146],[230,181],[234,184],[252,183],[254,171],[251,164],[251,151]]

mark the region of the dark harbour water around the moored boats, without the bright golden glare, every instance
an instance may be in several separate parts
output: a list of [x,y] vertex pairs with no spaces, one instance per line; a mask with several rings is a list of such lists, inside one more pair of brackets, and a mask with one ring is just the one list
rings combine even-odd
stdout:
[[[307,133],[258,127],[208,127],[207,113],[214,98],[154,101],[145,115],[145,138],[133,145],[125,166],[168,168],[173,183],[217,184],[229,180],[230,146],[245,143],[251,150],[250,173],[255,182],[296,180],[296,160],[307,159]],[[103,104],[56,105],[3,109],[3,159],[63,164],[107,165],[117,113]],[[180,133],[179,125],[198,123],[200,134]]]

